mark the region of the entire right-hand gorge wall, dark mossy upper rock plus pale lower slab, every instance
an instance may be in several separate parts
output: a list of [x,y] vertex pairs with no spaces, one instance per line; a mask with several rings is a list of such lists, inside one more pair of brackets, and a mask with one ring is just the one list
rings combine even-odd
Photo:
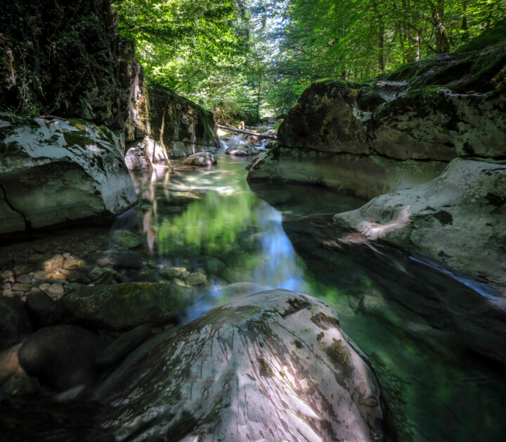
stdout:
[[505,72],[502,42],[408,63],[370,82],[316,82],[248,180],[372,198],[335,215],[337,232],[354,229],[506,293]]

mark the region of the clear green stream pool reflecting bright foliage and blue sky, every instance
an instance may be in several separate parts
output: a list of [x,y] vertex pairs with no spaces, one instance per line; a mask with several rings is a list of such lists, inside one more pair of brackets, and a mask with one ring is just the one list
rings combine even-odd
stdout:
[[[346,334],[370,358],[397,440],[505,440],[506,377],[466,351],[469,334],[461,334],[457,324],[459,315],[486,302],[484,296],[403,255],[336,253],[321,242],[312,245],[304,222],[330,220],[364,201],[271,184],[255,194],[245,179],[249,160],[224,155],[218,160],[212,169],[134,176],[141,199],[138,228],[157,263],[190,270],[207,266],[211,284],[188,306],[187,321],[242,296],[223,289],[227,284],[308,293],[337,310]],[[193,197],[175,191],[183,187],[174,184],[205,196],[188,200]],[[453,308],[453,300],[466,296],[472,301],[465,312]],[[493,336],[485,330],[481,339],[487,333]]]

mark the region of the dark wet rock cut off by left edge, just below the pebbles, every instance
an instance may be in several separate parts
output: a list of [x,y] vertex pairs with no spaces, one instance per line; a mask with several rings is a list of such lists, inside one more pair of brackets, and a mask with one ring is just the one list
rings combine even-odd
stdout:
[[31,329],[25,303],[0,295],[0,349],[13,345]]

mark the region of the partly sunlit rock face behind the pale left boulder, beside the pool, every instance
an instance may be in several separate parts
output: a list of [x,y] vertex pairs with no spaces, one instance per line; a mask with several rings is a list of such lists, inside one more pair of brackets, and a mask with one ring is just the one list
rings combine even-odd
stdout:
[[150,170],[168,157],[220,147],[211,112],[166,87],[145,84],[140,68],[132,83],[126,139],[137,141],[126,153],[131,170]]

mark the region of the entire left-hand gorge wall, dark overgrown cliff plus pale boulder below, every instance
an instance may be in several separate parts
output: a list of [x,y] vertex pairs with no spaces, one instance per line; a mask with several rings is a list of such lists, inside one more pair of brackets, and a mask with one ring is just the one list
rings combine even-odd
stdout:
[[212,113],[145,82],[110,1],[11,2],[0,29],[0,235],[135,206],[125,139],[131,168],[219,147]]

